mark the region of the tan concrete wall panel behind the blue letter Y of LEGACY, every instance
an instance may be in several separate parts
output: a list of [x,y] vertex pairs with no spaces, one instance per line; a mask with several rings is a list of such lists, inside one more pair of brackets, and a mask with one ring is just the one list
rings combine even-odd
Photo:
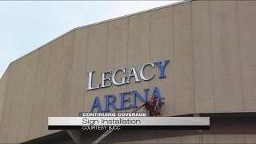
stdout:
[[170,60],[165,69],[166,78],[159,78],[158,66],[150,69],[154,78],[150,81],[150,90],[158,86],[162,97],[166,98],[162,106],[162,115],[174,115],[173,86],[173,6],[150,12],[150,62]]

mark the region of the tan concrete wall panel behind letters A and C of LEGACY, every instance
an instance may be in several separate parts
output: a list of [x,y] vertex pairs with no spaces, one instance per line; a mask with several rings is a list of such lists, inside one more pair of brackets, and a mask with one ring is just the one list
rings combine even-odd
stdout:
[[[128,63],[127,73],[130,74],[130,70],[135,66],[137,74],[142,65],[150,62],[150,13],[143,13],[131,16],[129,18],[129,36],[128,36]],[[148,77],[149,70],[144,72]],[[138,90],[142,97],[144,97],[144,89],[149,88],[149,82],[143,81],[134,82],[135,78],[130,78],[130,84],[127,85],[127,91]],[[149,91],[149,94],[152,90]],[[133,98],[130,96],[130,98]],[[137,98],[137,106],[142,102]],[[127,102],[127,106],[128,106]],[[131,111],[131,110],[127,110]]]

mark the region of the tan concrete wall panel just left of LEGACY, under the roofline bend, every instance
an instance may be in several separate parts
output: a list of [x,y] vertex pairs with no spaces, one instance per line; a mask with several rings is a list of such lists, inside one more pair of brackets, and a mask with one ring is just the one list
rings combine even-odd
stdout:
[[68,116],[78,116],[83,111],[86,79],[86,52],[88,28],[74,30],[74,51],[70,75]]

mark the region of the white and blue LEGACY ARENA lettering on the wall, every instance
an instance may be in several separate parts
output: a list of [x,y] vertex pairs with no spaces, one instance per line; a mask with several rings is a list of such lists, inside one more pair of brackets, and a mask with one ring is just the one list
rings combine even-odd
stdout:
[[[158,70],[158,75],[157,75],[158,78],[160,78],[160,79],[166,78],[165,69],[169,62],[170,62],[170,60],[165,60],[164,62],[146,63],[139,70],[139,74],[137,73],[135,67],[132,67],[131,70],[127,73],[127,74],[129,74],[128,77],[122,77],[121,82],[118,82],[116,80],[116,75],[118,73],[122,73],[123,75],[125,75],[126,74],[125,68],[115,70],[114,72],[112,72],[112,71],[102,72],[101,73],[102,80],[98,85],[93,85],[93,78],[94,78],[95,71],[88,72],[87,73],[88,74],[88,85],[87,85],[88,87],[86,90],[97,90],[97,89],[101,89],[101,88],[105,88],[105,87],[110,87],[110,86],[112,86],[112,83],[116,86],[130,84],[130,78],[132,78],[132,77],[134,77],[134,82],[141,82],[141,80],[150,81],[151,79],[153,79],[155,77],[155,75],[152,74],[149,77],[146,77],[144,75],[144,70],[145,70],[146,66],[149,66],[153,69],[157,69]],[[138,90],[121,92],[121,93],[119,93],[120,102],[116,102],[116,95],[106,94],[105,95],[105,107],[102,107],[98,96],[96,96],[94,98],[94,102],[91,106],[90,112],[94,112],[94,109],[97,109],[98,112],[110,112],[110,106],[112,106],[114,110],[125,110],[125,109],[138,107],[136,99],[138,98],[142,103],[146,102],[148,91],[149,91],[149,89],[144,89],[144,92],[145,92],[144,97],[142,96],[142,94],[138,93]],[[160,95],[160,92],[159,92],[157,86],[154,87],[154,90],[150,96],[152,96],[153,94],[156,94],[161,101],[161,95]],[[133,102],[130,101],[131,98],[133,98]],[[120,107],[117,107],[116,103],[119,103]],[[102,108],[104,108],[104,110],[102,110]]]

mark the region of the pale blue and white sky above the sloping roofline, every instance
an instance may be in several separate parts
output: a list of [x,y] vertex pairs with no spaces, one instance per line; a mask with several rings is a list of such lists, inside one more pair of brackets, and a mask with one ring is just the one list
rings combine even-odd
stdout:
[[179,1],[0,1],[0,78],[10,62],[78,26]]

